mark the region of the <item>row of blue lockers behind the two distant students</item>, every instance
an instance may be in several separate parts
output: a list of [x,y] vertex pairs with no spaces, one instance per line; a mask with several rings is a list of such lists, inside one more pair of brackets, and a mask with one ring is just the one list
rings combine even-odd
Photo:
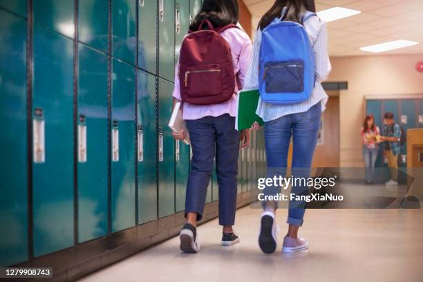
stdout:
[[[383,133],[384,114],[391,112],[394,114],[394,120],[400,124],[404,132],[408,129],[423,127],[423,97],[408,97],[404,99],[377,99],[369,98],[366,100],[366,115],[375,116],[375,124]],[[401,155],[398,160],[399,167],[406,167],[407,145],[401,146]],[[379,150],[376,167],[387,167],[387,160],[383,158],[382,150]]]

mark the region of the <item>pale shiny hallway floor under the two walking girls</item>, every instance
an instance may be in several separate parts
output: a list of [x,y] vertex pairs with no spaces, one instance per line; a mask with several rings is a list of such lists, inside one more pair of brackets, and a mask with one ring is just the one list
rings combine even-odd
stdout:
[[279,210],[278,251],[257,244],[259,209],[238,210],[241,243],[220,246],[217,220],[198,228],[201,250],[182,254],[178,237],[82,281],[423,281],[423,210],[308,210],[301,236],[310,249],[282,254],[287,211]]

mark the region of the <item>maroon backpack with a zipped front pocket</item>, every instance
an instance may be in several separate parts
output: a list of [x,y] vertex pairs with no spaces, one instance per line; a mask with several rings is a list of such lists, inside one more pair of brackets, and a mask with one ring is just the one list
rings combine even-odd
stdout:
[[[208,30],[203,29],[207,24]],[[179,57],[180,95],[183,102],[196,105],[220,104],[235,91],[231,48],[220,35],[234,24],[214,28],[205,19],[198,31],[189,32]]]

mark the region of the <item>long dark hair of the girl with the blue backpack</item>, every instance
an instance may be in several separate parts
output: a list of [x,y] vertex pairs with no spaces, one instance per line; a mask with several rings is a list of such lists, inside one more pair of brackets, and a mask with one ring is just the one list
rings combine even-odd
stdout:
[[264,30],[266,26],[270,25],[274,18],[281,17],[283,7],[286,7],[283,20],[296,21],[297,23],[301,23],[301,15],[303,12],[306,12],[306,10],[316,12],[314,0],[276,0],[272,8],[261,17],[258,28]]

